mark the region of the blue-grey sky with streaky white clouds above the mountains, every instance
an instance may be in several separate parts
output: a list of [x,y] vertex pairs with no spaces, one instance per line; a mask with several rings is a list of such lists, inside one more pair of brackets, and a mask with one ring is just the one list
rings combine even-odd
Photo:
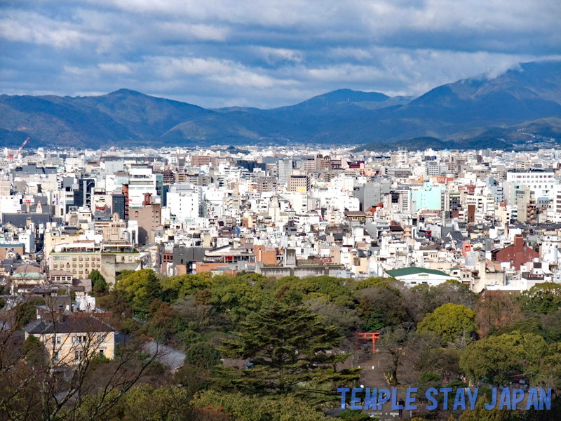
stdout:
[[275,107],[561,53],[560,0],[0,0],[0,93]]

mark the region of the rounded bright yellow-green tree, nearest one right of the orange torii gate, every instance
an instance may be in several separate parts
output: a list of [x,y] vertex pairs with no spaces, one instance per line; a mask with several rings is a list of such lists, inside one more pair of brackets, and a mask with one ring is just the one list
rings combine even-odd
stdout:
[[464,305],[451,302],[441,305],[419,323],[419,332],[434,332],[442,336],[445,343],[454,342],[461,335],[475,333],[475,313]]

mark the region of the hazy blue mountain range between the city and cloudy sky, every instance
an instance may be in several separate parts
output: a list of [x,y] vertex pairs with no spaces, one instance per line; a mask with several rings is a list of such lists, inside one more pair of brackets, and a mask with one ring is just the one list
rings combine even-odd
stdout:
[[0,95],[0,145],[19,146],[27,136],[29,147],[558,144],[561,61],[524,63],[418,98],[340,89],[274,109],[205,109],[128,89],[76,98]]

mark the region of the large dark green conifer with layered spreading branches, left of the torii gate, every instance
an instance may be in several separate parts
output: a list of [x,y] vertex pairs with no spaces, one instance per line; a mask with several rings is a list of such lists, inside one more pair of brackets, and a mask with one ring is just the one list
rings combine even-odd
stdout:
[[[302,394],[320,392],[321,385],[356,382],[360,369],[337,372],[335,365],[349,354],[336,351],[342,336],[325,326],[310,309],[274,303],[241,322],[233,340],[224,340],[220,353],[247,359],[245,368],[220,370],[220,375],[246,392]],[[326,394],[332,394],[332,387]]]

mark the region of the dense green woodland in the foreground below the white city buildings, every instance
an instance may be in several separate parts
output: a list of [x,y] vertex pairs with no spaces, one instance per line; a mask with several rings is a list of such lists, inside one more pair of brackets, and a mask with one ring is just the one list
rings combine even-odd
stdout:
[[[86,359],[65,372],[21,329],[36,302],[2,311],[0,420],[278,420],[338,417],[337,387],[361,384],[379,332],[386,385],[475,386],[475,410],[423,410],[417,420],[557,420],[561,417],[561,286],[521,295],[475,295],[457,281],[406,288],[389,278],[298,279],[123,272],[114,288],[94,272],[97,304],[128,335],[114,359]],[[186,354],[171,374],[143,351],[153,338]],[[491,387],[551,387],[550,411],[482,408]],[[453,400],[454,394],[450,395]],[[452,405],[449,406],[451,408]],[[442,408],[442,406],[439,406]]]

